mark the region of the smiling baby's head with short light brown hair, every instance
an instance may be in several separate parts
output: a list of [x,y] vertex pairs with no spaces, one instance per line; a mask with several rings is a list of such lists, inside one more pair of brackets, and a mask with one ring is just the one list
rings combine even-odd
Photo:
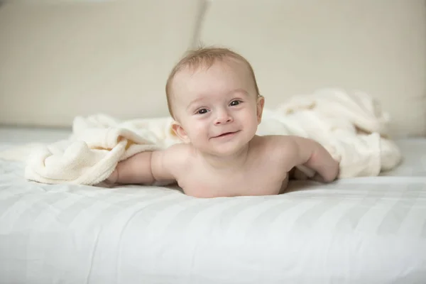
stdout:
[[166,84],[173,131],[205,153],[230,155],[261,123],[264,99],[250,63],[226,48],[190,51]]

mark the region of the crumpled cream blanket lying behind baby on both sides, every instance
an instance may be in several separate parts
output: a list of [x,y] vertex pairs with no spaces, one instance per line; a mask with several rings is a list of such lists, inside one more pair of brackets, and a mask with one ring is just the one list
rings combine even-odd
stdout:
[[[49,184],[97,185],[119,161],[180,143],[172,122],[170,117],[120,121],[105,114],[77,116],[68,139],[31,148],[25,177]],[[400,163],[388,124],[388,114],[370,95],[320,89],[264,109],[258,135],[312,138],[340,161],[339,178],[355,178],[376,176]]]

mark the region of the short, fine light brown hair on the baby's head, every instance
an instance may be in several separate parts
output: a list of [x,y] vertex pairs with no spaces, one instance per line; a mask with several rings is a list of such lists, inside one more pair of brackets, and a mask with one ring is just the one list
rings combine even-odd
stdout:
[[168,77],[167,83],[165,84],[165,94],[167,97],[168,110],[170,115],[173,117],[173,109],[171,104],[171,84],[176,73],[185,67],[189,67],[192,70],[196,70],[198,67],[211,67],[214,62],[224,61],[226,59],[234,59],[243,62],[248,68],[251,77],[253,78],[254,87],[256,89],[256,95],[260,96],[258,85],[256,82],[256,76],[254,75],[253,67],[246,58],[238,53],[234,52],[229,48],[209,47],[209,48],[197,48],[194,50],[188,50],[185,56],[173,67]]

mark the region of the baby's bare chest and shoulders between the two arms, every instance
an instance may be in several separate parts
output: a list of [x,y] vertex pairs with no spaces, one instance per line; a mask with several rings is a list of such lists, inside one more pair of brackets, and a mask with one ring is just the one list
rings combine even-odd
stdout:
[[178,185],[187,195],[278,195],[287,187],[288,173],[280,161],[271,156],[273,149],[267,138],[256,136],[249,145],[244,163],[236,167],[214,168],[192,150],[187,149],[187,166],[177,176]]

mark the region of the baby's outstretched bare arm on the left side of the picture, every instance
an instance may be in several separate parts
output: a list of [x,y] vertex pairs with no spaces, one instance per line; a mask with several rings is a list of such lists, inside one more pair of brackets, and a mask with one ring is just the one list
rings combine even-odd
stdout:
[[162,151],[144,151],[122,160],[107,179],[121,184],[152,185],[154,182],[175,180],[182,156],[180,145]]

